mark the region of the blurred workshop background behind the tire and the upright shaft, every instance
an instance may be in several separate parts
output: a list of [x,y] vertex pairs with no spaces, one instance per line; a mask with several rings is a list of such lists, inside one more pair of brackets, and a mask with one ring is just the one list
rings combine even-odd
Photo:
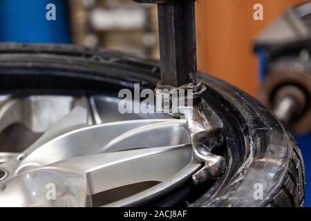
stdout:
[[[46,19],[48,3],[56,6],[55,21]],[[253,17],[256,3],[263,20]],[[196,23],[198,68],[274,111],[296,136],[310,183],[310,1],[200,0]],[[0,41],[79,44],[158,58],[157,27],[156,6],[132,0],[0,0]],[[310,206],[310,186],[307,191]]]

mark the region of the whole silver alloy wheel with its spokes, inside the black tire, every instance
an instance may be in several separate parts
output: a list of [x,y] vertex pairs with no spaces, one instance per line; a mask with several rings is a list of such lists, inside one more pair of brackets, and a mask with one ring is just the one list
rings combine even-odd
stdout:
[[[93,195],[104,194],[105,198],[119,188],[146,185],[122,198],[109,195],[110,200],[101,204],[126,206],[191,179],[202,166],[193,160],[187,122],[160,114],[120,115],[119,100],[106,96],[88,100],[69,96],[3,97],[2,131],[19,123],[42,135],[21,153],[0,154],[0,169],[8,173],[0,182],[6,186],[0,190],[0,205],[91,206]],[[45,102],[49,111],[40,115]],[[59,106],[56,117],[41,128],[36,126]],[[28,115],[22,114],[25,109]],[[53,202],[45,196],[46,184],[50,183],[58,190]]]

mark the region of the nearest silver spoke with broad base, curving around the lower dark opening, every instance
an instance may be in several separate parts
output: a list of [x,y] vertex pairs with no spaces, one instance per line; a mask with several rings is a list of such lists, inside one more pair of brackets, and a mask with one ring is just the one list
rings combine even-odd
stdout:
[[[191,153],[191,145],[179,145],[75,157],[5,180],[2,185],[8,188],[0,191],[0,199],[12,204],[16,200],[20,206],[91,206],[90,195],[139,182],[161,182],[119,205],[131,204],[195,173],[200,164],[191,162]],[[46,199],[47,184],[59,189],[52,205]],[[12,196],[12,191],[18,194]]]

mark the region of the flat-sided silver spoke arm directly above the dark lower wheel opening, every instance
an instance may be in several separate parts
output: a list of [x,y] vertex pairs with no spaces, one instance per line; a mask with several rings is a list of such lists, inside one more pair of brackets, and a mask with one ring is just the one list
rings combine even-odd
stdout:
[[138,182],[163,182],[191,162],[191,153],[191,145],[166,146],[77,157],[50,166],[85,174],[95,194]]

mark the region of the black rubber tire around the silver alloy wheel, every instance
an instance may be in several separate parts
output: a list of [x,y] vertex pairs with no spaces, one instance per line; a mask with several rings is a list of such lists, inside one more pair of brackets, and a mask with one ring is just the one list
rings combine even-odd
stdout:
[[[225,144],[218,152],[225,155],[227,169],[209,183],[192,186],[189,206],[303,206],[303,159],[290,133],[256,99],[220,79],[199,75],[208,88],[204,98],[225,125]],[[0,44],[1,93],[117,93],[120,88],[133,88],[134,83],[155,88],[159,77],[157,61],[120,52],[81,46]],[[263,188],[263,198],[256,195],[258,185]]]

